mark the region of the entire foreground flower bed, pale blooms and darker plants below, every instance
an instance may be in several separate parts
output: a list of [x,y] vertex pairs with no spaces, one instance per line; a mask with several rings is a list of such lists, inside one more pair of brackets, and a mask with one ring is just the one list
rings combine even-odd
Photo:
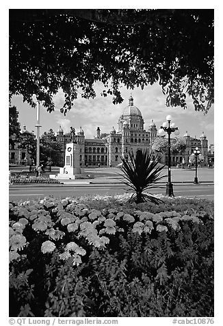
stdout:
[[10,316],[213,316],[213,203],[10,203]]

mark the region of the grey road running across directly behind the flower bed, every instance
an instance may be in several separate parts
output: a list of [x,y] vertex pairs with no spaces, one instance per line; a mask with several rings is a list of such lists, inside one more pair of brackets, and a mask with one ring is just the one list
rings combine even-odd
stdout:
[[[126,192],[126,187],[121,184],[86,184],[86,185],[53,185],[53,186],[10,186],[10,201],[20,199],[42,199],[45,196],[53,195],[53,197],[79,197],[86,195],[116,195]],[[159,184],[159,188],[150,189],[152,194],[166,193],[166,184]],[[213,199],[214,186],[213,183],[204,184],[174,184],[175,196],[199,197]]]

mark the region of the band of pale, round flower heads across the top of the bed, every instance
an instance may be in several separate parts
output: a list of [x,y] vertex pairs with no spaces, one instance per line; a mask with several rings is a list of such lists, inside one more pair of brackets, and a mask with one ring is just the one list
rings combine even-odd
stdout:
[[[42,237],[42,254],[53,253],[62,260],[72,259],[74,266],[81,264],[81,257],[92,247],[105,249],[112,237],[121,232],[150,236],[152,232],[181,229],[181,223],[188,221],[202,223],[194,214],[175,211],[154,214],[134,210],[128,214],[118,209],[90,209],[70,197],[10,203],[10,216],[10,261],[25,257],[29,242],[39,236]],[[200,212],[200,216],[205,216],[205,212]]]

